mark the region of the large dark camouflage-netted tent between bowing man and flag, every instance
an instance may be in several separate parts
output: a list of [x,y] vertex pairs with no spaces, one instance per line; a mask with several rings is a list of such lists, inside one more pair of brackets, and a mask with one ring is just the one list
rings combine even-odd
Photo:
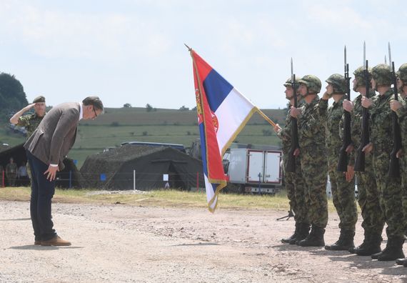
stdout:
[[126,144],[109,152],[87,157],[81,167],[86,180],[82,187],[109,190],[133,189],[134,170],[136,189],[163,188],[163,174],[169,174],[171,188],[190,190],[204,187],[202,162],[171,147],[134,146]]

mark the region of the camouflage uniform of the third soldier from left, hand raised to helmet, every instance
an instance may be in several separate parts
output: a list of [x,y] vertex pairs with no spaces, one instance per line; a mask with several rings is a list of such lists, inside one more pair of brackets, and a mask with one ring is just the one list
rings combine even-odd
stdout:
[[[339,152],[342,147],[342,139],[339,136],[339,123],[343,115],[343,96],[338,102],[328,108],[326,116],[326,149],[328,157],[328,174],[331,180],[331,191],[333,205],[338,212],[340,219],[339,228],[348,232],[355,232],[355,225],[358,220],[358,212],[355,201],[355,183],[346,181],[345,174],[338,172]],[[320,105],[328,104],[328,100],[321,99]],[[324,106],[326,107],[326,106]]]

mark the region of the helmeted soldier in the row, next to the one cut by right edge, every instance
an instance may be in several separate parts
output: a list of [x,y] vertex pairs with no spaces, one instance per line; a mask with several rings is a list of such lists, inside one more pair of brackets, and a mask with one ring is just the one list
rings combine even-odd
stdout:
[[401,208],[401,179],[389,177],[390,154],[393,149],[393,123],[390,101],[394,99],[391,89],[392,75],[387,64],[378,64],[372,68],[371,84],[378,91],[374,101],[362,97],[362,106],[370,109],[371,142],[364,148],[365,153],[373,152],[373,169],[376,184],[380,192],[380,204],[387,228],[387,244],[382,252],[372,254],[372,259],[391,261],[403,258],[404,219]]

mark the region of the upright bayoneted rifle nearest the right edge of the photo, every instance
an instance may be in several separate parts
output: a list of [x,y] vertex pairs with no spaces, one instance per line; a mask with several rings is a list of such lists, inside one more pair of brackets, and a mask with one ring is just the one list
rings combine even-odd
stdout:
[[[394,71],[394,61],[391,61],[390,42],[388,43],[388,64],[391,64],[391,76],[393,79],[394,100],[398,100],[397,78]],[[396,112],[392,111],[393,118],[393,150],[390,153],[390,164],[388,166],[388,177],[400,177],[400,164],[398,164],[397,152],[401,149],[401,132],[398,125]]]

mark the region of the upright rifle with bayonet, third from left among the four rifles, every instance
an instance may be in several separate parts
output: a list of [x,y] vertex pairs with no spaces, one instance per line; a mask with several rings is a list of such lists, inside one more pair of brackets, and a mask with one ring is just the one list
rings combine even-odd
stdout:
[[[384,56],[386,61],[386,56]],[[365,85],[366,94],[365,96],[369,98],[370,84],[369,72],[368,72],[368,60],[366,60],[366,44],[363,42],[363,66],[365,67]],[[358,149],[356,149],[356,159],[355,159],[355,171],[365,172],[365,152],[363,148],[370,142],[369,136],[369,111],[367,108],[362,107],[362,134],[361,134],[361,144]]]

